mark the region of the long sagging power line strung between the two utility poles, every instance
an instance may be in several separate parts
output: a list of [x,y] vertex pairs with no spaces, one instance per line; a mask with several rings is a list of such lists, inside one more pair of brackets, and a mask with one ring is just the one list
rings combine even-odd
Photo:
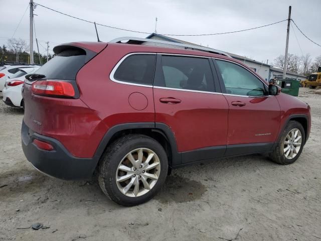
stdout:
[[[71,15],[69,15],[69,14],[62,13],[62,12],[60,12],[60,11],[57,11],[57,10],[48,8],[48,7],[43,6],[43,5],[41,5],[41,4],[37,4],[37,3],[35,3],[35,4],[36,4],[37,6],[38,6],[38,5],[41,6],[41,7],[45,8],[45,9],[49,9],[49,10],[54,11],[54,12],[56,12],[56,13],[59,13],[59,14],[68,16],[68,17],[70,17],[70,18],[74,18],[74,19],[77,19],[77,20],[81,20],[81,21],[84,21],[84,22],[87,22],[87,23],[94,24],[94,22],[92,22],[92,21],[85,20],[85,19],[81,19],[81,18],[78,18],[78,17],[71,16]],[[278,24],[278,23],[281,23],[281,22],[284,22],[284,21],[287,21],[287,19],[282,20],[282,21],[278,21],[278,22],[275,22],[275,23],[263,25],[263,26],[258,26],[258,27],[254,27],[254,28],[243,29],[243,30],[237,30],[237,31],[231,31],[231,32],[225,32],[225,33],[214,33],[214,34],[161,34],[161,35],[166,35],[166,36],[211,36],[211,35],[221,35],[221,34],[232,34],[232,33],[239,33],[239,32],[244,32],[244,31],[259,29],[259,28],[271,26],[271,25],[274,25],[274,24]],[[98,23],[96,23],[96,25],[103,26],[103,27],[107,27],[107,28],[111,28],[111,29],[128,31],[128,32],[132,32],[132,33],[150,34],[150,32],[142,32],[142,31],[134,31],[134,30],[129,30],[129,29],[122,29],[122,28],[117,28],[117,27],[113,27],[113,26],[109,26],[109,25],[104,25],[104,24],[98,24]]]

